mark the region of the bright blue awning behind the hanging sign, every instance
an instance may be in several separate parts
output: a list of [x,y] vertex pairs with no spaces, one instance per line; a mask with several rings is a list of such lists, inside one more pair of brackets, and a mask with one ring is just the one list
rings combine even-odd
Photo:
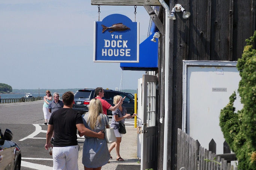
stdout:
[[158,38],[156,42],[150,41],[151,34],[146,40],[139,44],[138,63],[120,63],[122,70],[155,71],[158,67]]

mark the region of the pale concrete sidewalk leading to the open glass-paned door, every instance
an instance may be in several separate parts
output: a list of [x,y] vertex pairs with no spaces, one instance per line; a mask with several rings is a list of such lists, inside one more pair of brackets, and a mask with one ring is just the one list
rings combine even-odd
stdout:
[[[110,146],[110,144],[108,144]],[[141,165],[138,164],[137,158],[137,129],[133,127],[126,127],[126,134],[123,135],[120,144],[120,155],[124,161],[116,160],[115,148],[111,151],[110,163],[102,166],[102,170],[140,170]],[[82,164],[82,147],[78,153],[78,169],[84,170]]]

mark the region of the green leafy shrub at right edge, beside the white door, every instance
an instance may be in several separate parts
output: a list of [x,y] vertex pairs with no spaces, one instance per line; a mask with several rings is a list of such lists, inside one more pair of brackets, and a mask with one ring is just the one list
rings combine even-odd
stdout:
[[236,93],[229,97],[229,103],[220,112],[220,127],[226,142],[235,152],[238,169],[256,170],[256,50],[253,43],[256,31],[246,40],[242,58],[238,59],[240,72],[238,92],[243,109],[235,113]]

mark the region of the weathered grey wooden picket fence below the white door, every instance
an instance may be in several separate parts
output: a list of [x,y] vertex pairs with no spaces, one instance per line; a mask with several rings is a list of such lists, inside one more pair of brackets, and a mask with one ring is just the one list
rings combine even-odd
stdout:
[[178,170],[237,170],[224,158],[198,146],[198,142],[178,129]]

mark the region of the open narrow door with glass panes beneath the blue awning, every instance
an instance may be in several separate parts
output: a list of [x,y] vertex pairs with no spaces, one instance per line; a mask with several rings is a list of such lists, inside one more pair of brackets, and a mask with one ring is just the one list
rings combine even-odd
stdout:
[[156,169],[156,83],[157,76],[142,77],[141,170]]

